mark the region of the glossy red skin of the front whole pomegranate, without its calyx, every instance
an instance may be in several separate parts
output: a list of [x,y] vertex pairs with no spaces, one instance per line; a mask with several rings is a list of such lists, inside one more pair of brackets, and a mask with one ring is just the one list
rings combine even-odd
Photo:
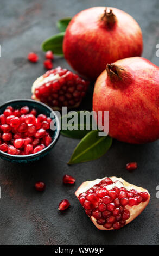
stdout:
[[109,135],[128,143],[159,138],[159,68],[141,57],[118,60],[132,75],[129,84],[112,83],[106,70],[97,78],[93,110],[109,111]]

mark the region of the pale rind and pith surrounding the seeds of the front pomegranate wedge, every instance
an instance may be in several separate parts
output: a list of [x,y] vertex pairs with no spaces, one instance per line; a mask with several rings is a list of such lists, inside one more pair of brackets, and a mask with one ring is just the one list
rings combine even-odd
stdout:
[[[105,179],[106,177],[104,177],[103,179]],[[132,190],[132,189],[135,189],[138,193],[140,192],[147,192],[149,197],[147,199],[147,201],[145,202],[141,202],[140,204],[138,205],[134,205],[134,206],[129,206],[129,205],[126,205],[125,206],[125,209],[128,209],[129,212],[130,212],[130,217],[128,220],[126,220],[126,224],[130,223],[131,221],[133,221],[139,214],[141,214],[141,212],[145,209],[145,207],[148,205],[149,203],[149,200],[150,200],[150,194],[149,192],[143,188],[143,187],[138,187],[138,186],[135,186],[133,184],[130,184],[129,182],[126,182],[125,180],[123,180],[122,178],[117,178],[116,176],[112,176],[112,177],[109,177],[113,182],[115,181],[119,181],[122,183],[122,187],[125,187],[126,190]],[[75,191],[75,196],[79,196],[79,194],[81,193],[84,193],[86,192],[88,189],[90,189],[91,187],[93,187],[94,185],[98,184],[101,180],[103,179],[96,179],[96,180],[92,180],[92,181],[85,181],[83,182],[79,188],[77,189],[77,191]],[[109,186],[119,186],[119,184],[116,182],[115,184],[111,184]],[[120,186],[121,187],[121,186]],[[90,217],[90,216],[88,216]],[[97,220],[96,218],[94,218],[93,216],[90,217],[91,218],[91,221],[94,223],[94,225],[96,225],[96,227],[100,230],[114,230],[113,228],[110,228],[110,229],[106,229],[104,228],[102,225],[98,225],[97,224]]]

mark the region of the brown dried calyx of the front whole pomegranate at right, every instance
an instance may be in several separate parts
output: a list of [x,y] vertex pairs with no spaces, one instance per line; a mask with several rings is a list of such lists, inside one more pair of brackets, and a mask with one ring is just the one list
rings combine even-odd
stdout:
[[[115,84],[115,82],[120,82],[121,80],[124,84],[126,84],[126,86],[128,86],[128,84],[132,82],[132,75],[128,70],[124,69],[122,66],[118,66],[115,64],[107,64],[106,72],[107,76],[110,78],[110,81],[113,82],[113,84],[111,84],[113,87],[118,88],[118,83]],[[121,83],[119,83],[119,86],[120,85]]]

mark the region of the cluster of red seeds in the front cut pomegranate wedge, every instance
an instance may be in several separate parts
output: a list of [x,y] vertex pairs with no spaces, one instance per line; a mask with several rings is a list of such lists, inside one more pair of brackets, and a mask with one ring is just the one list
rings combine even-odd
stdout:
[[130,217],[129,209],[125,206],[132,207],[147,201],[148,193],[109,186],[111,184],[112,180],[105,178],[85,193],[81,193],[78,198],[86,214],[93,216],[98,225],[103,225],[106,229],[120,229]]

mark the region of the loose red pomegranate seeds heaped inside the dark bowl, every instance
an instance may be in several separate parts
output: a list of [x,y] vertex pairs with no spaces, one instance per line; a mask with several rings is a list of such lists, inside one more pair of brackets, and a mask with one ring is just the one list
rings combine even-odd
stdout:
[[48,130],[51,118],[37,115],[36,109],[8,106],[0,115],[0,150],[11,155],[37,153],[52,142]]

